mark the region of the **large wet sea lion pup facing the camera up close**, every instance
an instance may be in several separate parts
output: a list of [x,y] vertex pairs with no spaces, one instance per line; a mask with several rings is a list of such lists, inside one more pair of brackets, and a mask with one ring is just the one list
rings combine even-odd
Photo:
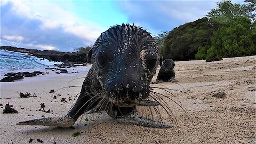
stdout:
[[101,34],[89,52],[92,67],[84,79],[75,105],[63,117],[20,122],[17,125],[70,127],[82,114],[106,111],[119,123],[170,128],[138,114],[136,106],[156,106],[149,84],[159,63],[155,39],[141,27],[114,26]]

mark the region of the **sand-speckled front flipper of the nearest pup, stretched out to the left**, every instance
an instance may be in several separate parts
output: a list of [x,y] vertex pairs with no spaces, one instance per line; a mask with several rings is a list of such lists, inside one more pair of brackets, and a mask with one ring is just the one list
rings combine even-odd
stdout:
[[45,126],[57,126],[57,127],[70,127],[73,126],[76,119],[69,117],[68,115],[63,117],[47,117],[32,119],[29,121],[19,122],[17,125],[45,125]]

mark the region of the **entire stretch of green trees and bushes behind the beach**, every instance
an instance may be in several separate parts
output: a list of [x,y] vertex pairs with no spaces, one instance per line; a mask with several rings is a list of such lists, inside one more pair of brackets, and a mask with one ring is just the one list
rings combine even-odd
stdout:
[[164,59],[193,60],[256,54],[256,1],[219,2],[204,18],[156,35]]

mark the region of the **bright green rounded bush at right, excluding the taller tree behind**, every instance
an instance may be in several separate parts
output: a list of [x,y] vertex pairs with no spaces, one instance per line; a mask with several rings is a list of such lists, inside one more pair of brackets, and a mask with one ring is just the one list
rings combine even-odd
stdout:
[[[254,24],[255,25],[255,24]],[[251,20],[246,17],[236,17],[228,22],[227,27],[221,27],[214,32],[211,45],[199,47],[196,59],[241,57],[255,53]]]

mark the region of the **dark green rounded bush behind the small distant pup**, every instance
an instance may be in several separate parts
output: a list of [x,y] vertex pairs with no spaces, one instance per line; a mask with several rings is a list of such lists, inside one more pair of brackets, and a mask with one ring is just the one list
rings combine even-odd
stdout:
[[218,23],[211,22],[207,18],[174,28],[164,39],[164,46],[161,50],[164,59],[195,59],[198,47],[209,45],[213,31],[218,28]]

